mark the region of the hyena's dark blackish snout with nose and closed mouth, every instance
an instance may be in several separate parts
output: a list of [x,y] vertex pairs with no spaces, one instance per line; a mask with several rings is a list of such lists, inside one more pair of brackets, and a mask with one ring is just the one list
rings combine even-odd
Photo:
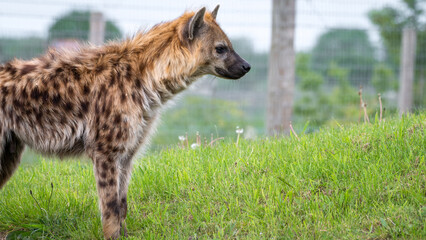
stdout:
[[225,68],[216,67],[215,70],[221,77],[239,79],[248,73],[250,69],[250,64],[233,51],[231,56],[225,60]]

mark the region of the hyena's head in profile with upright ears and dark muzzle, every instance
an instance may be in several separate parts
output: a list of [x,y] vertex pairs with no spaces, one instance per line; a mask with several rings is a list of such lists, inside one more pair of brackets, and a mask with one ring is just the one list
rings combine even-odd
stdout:
[[219,5],[211,13],[202,8],[193,14],[186,22],[182,38],[201,59],[200,73],[239,79],[251,66],[234,51],[231,41],[216,23],[218,9]]

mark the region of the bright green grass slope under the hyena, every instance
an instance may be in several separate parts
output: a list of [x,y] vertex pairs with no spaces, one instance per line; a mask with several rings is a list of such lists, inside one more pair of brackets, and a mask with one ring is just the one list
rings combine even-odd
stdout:
[[[130,239],[426,238],[426,114],[299,138],[139,158]],[[101,239],[92,164],[22,165],[0,191],[0,232]]]

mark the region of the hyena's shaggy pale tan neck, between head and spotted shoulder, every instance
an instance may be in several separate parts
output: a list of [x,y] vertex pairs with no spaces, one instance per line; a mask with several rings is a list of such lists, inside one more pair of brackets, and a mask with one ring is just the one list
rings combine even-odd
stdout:
[[183,46],[175,22],[154,27],[145,34],[138,34],[129,44],[138,53],[140,76],[146,88],[154,91],[167,102],[201,77],[199,60]]

